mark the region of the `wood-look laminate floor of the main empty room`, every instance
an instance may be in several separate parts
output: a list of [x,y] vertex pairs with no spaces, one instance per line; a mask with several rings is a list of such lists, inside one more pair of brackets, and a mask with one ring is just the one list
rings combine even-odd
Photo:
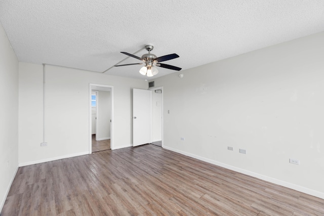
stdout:
[[1,215],[324,215],[324,200],[143,145],[20,167]]

